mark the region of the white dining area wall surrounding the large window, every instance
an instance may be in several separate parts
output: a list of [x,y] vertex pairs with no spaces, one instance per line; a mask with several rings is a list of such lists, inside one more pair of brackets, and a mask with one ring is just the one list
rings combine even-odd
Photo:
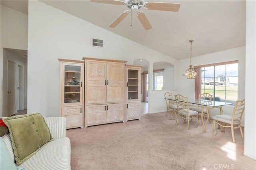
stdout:
[[[200,55],[192,57],[192,65],[205,65],[212,63],[220,63],[226,61],[238,60],[238,99],[244,99],[245,96],[245,46],[224,51],[218,51],[216,53],[210,53],[206,55]],[[178,61],[178,76],[177,76],[177,92],[186,95],[189,98],[194,98],[195,93],[195,81],[194,79],[186,79],[184,76],[180,76],[189,67],[190,58],[182,59]],[[227,115],[232,115],[234,107],[224,106],[223,111]],[[220,114],[219,109],[211,109],[210,117]],[[244,118],[242,125],[244,126]]]

